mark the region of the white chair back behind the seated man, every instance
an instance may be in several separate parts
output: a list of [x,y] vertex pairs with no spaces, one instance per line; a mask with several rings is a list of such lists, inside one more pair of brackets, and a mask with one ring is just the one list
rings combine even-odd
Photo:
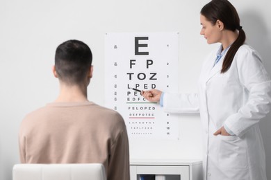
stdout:
[[13,180],[106,180],[100,163],[16,164]]

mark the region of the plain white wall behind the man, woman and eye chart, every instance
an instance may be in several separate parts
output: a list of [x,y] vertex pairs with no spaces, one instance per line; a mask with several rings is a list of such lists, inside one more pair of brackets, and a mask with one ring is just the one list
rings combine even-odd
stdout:
[[[199,35],[199,11],[208,1],[195,0],[1,0],[0,1],[0,179],[12,179],[19,163],[17,132],[22,118],[56,98],[51,74],[56,46],[80,39],[94,54],[89,99],[104,105],[104,34],[180,32],[179,91],[197,90],[203,57],[214,45]],[[247,42],[262,55],[271,74],[271,24],[268,0],[231,1]],[[261,122],[268,179],[271,179],[271,116]],[[131,141],[131,158],[201,159],[198,116],[180,116],[179,141]],[[140,147],[139,147],[140,146]]]

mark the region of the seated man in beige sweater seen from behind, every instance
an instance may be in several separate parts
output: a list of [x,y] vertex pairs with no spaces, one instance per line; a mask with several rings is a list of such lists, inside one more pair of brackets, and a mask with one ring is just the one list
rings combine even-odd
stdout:
[[22,163],[103,163],[107,179],[130,179],[124,120],[116,111],[88,101],[92,71],[86,44],[69,40],[58,46],[53,73],[60,93],[22,120]]

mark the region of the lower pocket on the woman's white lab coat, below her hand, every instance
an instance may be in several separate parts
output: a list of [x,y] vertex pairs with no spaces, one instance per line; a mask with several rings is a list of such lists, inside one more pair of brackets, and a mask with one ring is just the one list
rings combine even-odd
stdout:
[[247,169],[247,146],[238,136],[219,136],[218,165],[227,170]]

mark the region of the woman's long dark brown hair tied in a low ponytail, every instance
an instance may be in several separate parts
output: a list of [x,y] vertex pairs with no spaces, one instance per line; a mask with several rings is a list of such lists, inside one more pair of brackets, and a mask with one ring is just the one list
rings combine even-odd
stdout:
[[206,17],[208,21],[211,21],[213,25],[216,24],[217,20],[220,20],[224,24],[225,29],[239,31],[236,41],[231,44],[231,48],[229,48],[224,58],[221,73],[225,73],[231,66],[231,62],[238,48],[245,43],[245,31],[242,26],[240,26],[240,19],[236,8],[227,0],[212,0],[202,8],[200,13]]

